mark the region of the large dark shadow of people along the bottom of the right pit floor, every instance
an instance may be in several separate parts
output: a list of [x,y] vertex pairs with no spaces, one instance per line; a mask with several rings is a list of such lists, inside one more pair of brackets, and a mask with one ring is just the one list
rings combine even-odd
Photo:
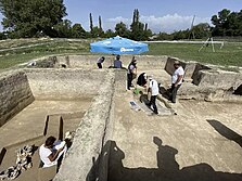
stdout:
[[125,153],[114,141],[110,142],[109,181],[241,181],[242,173],[215,171],[208,164],[202,163],[179,169],[175,159],[178,151],[163,145],[160,138],[153,138],[157,145],[157,168],[127,168],[122,160]]

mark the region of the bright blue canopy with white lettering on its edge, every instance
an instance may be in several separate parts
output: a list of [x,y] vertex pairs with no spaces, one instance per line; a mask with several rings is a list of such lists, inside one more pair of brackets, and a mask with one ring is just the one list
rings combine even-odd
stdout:
[[149,51],[148,44],[119,36],[90,43],[91,52],[110,54],[139,54]]

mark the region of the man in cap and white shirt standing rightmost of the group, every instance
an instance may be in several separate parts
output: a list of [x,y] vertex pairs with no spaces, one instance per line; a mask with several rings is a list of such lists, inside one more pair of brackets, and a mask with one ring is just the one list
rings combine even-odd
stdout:
[[180,88],[184,76],[184,69],[180,65],[179,61],[174,62],[174,67],[175,72],[171,77],[171,89],[170,89],[171,94],[169,98],[169,101],[171,101],[171,103],[176,103],[177,91]]

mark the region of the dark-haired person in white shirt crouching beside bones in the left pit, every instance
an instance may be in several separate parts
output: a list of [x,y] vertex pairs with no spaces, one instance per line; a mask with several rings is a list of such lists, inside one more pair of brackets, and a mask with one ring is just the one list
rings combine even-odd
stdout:
[[49,137],[44,144],[39,147],[39,156],[41,161],[43,163],[43,167],[51,167],[58,165],[59,158],[67,151],[67,146],[65,141],[55,142],[54,137]]

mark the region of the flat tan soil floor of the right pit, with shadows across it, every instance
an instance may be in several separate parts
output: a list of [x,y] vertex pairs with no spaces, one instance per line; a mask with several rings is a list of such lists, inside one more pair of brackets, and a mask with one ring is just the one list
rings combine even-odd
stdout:
[[[168,86],[163,70],[147,73]],[[133,96],[115,96],[110,181],[242,179],[242,104],[179,100],[177,115],[151,116],[131,109]]]

